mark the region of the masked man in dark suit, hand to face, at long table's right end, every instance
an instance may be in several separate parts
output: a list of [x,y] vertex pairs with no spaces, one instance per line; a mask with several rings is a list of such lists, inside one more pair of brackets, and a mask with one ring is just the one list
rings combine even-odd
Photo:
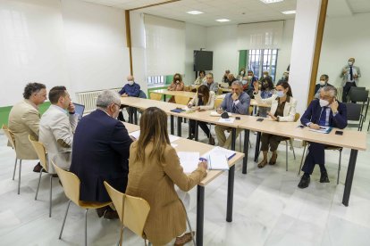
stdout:
[[[320,99],[313,100],[300,122],[307,127],[320,129],[320,127],[347,127],[347,108],[346,105],[336,100],[337,89],[333,86],[324,86],[320,92]],[[325,144],[310,143],[308,154],[303,165],[304,175],[299,182],[299,188],[308,187],[310,175],[315,168],[315,164],[320,167],[320,183],[329,183],[328,174],[325,168]]]

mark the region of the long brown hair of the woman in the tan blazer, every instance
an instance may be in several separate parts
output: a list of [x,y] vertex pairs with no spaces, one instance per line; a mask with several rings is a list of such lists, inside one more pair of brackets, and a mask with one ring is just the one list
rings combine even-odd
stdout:
[[153,150],[149,159],[164,162],[164,151],[170,143],[167,131],[167,115],[156,107],[149,107],[143,112],[140,119],[140,136],[137,143],[138,152],[135,161],[144,162],[147,144],[153,142]]

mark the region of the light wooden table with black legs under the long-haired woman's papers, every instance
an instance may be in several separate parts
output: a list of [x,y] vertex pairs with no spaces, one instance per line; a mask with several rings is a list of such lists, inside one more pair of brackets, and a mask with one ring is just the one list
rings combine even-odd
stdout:
[[[127,131],[133,132],[139,130],[139,126],[130,123],[124,123]],[[175,150],[177,152],[199,152],[200,155],[209,152],[214,148],[212,145],[206,143],[194,142],[189,139],[180,138],[173,143],[177,146]],[[236,152],[235,156],[229,160],[229,176],[227,184],[227,205],[226,205],[226,221],[232,221],[232,203],[234,195],[234,175],[235,175],[235,163],[244,157],[244,153]],[[205,217],[205,187],[206,184],[211,183],[214,178],[223,174],[221,170],[209,170],[205,178],[202,179],[200,184],[197,185],[197,245],[203,245],[203,232],[204,232],[204,217]]]

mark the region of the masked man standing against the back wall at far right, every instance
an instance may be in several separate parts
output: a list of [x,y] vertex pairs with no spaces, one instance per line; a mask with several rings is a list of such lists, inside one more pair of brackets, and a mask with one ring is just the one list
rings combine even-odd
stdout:
[[358,67],[353,66],[355,58],[349,58],[349,63],[341,70],[341,79],[343,86],[343,94],[341,95],[341,102],[347,102],[347,96],[349,95],[349,89],[352,86],[357,86],[358,78],[361,77],[361,71]]

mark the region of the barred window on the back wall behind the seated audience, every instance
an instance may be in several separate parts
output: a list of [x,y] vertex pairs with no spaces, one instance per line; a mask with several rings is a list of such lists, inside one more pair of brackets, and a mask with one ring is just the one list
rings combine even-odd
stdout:
[[277,49],[248,50],[248,70],[253,70],[257,78],[261,78],[262,73],[268,70],[275,81],[277,57]]

